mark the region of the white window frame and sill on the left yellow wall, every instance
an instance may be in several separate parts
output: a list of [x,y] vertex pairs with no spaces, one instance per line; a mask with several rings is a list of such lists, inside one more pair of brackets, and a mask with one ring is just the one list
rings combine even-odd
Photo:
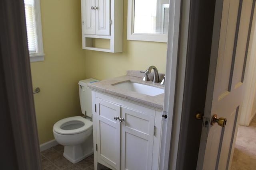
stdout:
[[34,14],[36,20],[37,52],[30,54],[30,62],[44,61],[44,46],[42,36],[40,0],[34,0]]

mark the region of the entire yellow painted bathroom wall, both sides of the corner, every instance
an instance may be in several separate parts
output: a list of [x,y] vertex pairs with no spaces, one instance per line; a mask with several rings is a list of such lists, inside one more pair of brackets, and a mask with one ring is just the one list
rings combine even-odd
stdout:
[[124,50],[104,53],[82,50],[80,0],[41,0],[45,61],[31,63],[40,144],[54,139],[52,127],[64,117],[79,115],[78,80],[122,76],[126,70],[155,65],[165,73],[166,43],[127,41],[124,0]]

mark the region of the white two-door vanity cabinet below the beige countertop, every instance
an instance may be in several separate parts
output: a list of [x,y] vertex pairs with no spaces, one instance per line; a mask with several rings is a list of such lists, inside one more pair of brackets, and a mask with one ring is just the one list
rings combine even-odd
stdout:
[[160,111],[100,92],[92,92],[92,106],[95,169],[158,169]]

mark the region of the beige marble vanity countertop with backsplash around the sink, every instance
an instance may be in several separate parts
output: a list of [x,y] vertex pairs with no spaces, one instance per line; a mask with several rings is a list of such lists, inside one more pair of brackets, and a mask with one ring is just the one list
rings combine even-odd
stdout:
[[[107,94],[118,96],[127,100],[131,100],[133,102],[138,102],[140,104],[154,107],[156,109],[163,109],[164,94],[159,94],[157,96],[148,96],[146,94],[132,92],[130,90],[118,88],[112,85],[120,82],[130,81],[130,82],[136,82],[141,84],[147,84],[150,86],[156,86],[158,88],[164,89],[164,85],[160,85],[160,83],[153,83],[152,81],[148,81],[148,82],[142,81],[141,77],[143,76],[144,74],[139,73],[139,71],[127,71],[126,76],[120,76],[120,77],[102,80],[99,82],[94,82],[94,83],[88,84],[88,87],[99,92],[104,92]],[[163,77],[163,74],[160,74],[159,79],[162,80],[162,77]]]

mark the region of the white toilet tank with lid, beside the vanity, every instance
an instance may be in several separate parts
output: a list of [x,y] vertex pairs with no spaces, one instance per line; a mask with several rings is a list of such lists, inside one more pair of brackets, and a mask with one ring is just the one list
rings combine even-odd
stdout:
[[97,81],[94,78],[89,78],[78,82],[81,111],[82,114],[86,112],[88,117],[92,117],[92,90],[87,87],[87,84]]

